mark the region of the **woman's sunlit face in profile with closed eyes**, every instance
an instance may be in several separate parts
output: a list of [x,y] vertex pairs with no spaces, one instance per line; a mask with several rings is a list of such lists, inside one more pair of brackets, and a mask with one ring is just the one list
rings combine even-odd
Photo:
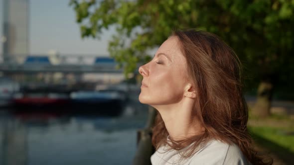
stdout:
[[179,102],[186,81],[186,60],[180,51],[178,39],[169,37],[156,51],[154,58],[139,68],[143,76],[139,100],[149,105],[167,105]]

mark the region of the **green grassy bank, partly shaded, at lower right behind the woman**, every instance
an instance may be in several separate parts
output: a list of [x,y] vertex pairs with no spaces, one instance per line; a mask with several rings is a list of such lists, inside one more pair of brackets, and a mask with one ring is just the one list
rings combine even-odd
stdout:
[[248,128],[258,148],[274,158],[274,165],[294,165],[294,119],[287,115],[250,116]]

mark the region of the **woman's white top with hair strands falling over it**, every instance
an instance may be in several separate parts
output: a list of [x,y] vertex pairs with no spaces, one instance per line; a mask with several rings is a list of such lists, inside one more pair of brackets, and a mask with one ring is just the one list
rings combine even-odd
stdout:
[[[167,141],[170,141],[167,138]],[[191,144],[192,145],[192,144]],[[152,165],[251,165],[237,145],[229,145],[218,140],[212,140],[197,153],[185,160],[179,160],[176,150],[161,146],[151,156]],[[186,151],[186,147],[180,151]]]

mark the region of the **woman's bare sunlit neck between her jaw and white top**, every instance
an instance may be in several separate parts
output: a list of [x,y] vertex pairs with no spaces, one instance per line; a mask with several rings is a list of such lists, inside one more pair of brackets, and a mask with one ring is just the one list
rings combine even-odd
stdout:
[[195,100],[184,97],[177,103],[152,105],[160,113],[172,140],[184,140],[201,133],[202,126],[193,118]]

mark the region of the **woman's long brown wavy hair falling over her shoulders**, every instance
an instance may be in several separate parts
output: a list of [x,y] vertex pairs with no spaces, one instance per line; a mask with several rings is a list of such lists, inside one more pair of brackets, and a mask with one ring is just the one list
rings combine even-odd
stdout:
[[189,158],[199,146],[216,139],[236,144],[253,165],[272,165],[253,148],[247,129],[248,107],[242,94],[241,62],[235,52],[219,37],[201,30],[175,31],[179,46],[187,62],[187,75],[197,91],[193,109],[194,119],[204,127],[200,135],[167,142],[168,132],[157,112],[152,128],[152,144],[158,149],[168,145],[181,150],[190,146],[181,158]]

